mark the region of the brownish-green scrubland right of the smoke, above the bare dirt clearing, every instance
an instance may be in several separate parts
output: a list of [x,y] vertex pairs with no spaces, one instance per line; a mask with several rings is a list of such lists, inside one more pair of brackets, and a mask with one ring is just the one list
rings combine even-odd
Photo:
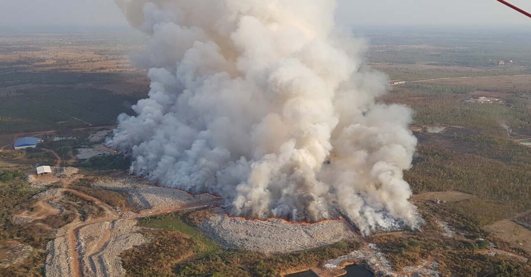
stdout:
[[[421,144],[419,162],[405,174],[417,193],[452,189],[503,203],[520,211],[531,208],[531,149],[489,137],[469,137],[463,154],[441,145]],[[480,143],[479,141],[483,141]],[[498,158],[499,160],[494,160]]]

